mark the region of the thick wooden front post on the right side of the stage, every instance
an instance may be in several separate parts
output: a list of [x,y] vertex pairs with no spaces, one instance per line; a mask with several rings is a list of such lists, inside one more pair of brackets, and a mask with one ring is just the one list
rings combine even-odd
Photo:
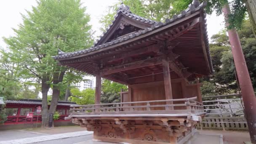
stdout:
[[[162,59],[163,63],[163,79],[165,84],[165,99],[173,99],[173,94],[171,90],[171,75],[169,68],[169,61],[166,59]],[[173,104],[172,101],[167,102],[166,104]],[[173,107],[169,107],[169,109],[173,109]]]

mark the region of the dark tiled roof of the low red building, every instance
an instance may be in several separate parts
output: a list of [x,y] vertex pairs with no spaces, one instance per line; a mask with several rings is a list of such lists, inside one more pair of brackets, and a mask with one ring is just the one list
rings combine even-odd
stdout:
[[[6,100],[5,104],[42,104],[42,100],[40,99],[21,99],[21,100]],[[58,101],[58,105],[62,106],[77,106],[75,102],[69,101]]]

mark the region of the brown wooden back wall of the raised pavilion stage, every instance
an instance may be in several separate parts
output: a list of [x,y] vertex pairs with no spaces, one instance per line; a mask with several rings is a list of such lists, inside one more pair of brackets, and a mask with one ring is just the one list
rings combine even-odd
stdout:
[[[188,84],[184,79],[171,80],[173,99],[183,99],[198,96],[197,84]],[[154,101],[165,99],[164,82],[156,81],[150,83],[141,83],[129,85],[131,90],[131,101]],[[173,104],[183,104],[182,101],[174,101]],[[165,104],[153,102],[152,105]],[[140,104],[134,104],[135,106]],[[184,107],[174,107],[174,109],[184,109]],[[146,109],[135,109],[146,110]],[[152,110],[163,110],[163,108],[152,108]]]

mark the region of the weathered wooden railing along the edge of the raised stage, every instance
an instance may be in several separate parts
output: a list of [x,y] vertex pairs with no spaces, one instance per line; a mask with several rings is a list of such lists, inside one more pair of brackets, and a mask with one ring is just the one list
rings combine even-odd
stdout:
[[[197,97],[71,106],[72,115],[191,114],[203,111]],[[174,103],[174,104],[173,104]]]

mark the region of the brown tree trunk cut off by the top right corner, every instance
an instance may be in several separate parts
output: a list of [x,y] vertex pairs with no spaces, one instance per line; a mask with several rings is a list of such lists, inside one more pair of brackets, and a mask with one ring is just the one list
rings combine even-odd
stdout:
[[254,37],[256,37],[256,0],[246,0],[245,5],[251,20]]

